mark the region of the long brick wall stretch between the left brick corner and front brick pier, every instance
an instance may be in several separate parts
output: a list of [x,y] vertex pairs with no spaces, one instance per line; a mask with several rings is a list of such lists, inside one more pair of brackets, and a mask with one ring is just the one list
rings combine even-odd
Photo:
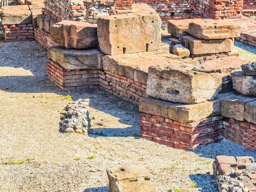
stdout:
[[99,73],[99,87],[107,92],[136,104],[139,99],[147,97],[145,84],[108,71]]

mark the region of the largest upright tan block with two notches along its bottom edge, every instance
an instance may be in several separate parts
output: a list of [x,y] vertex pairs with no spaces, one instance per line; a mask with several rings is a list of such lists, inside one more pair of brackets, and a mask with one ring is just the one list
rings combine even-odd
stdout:
[[132,54],[160,49],[161,19],[147,4],[135,4],[131,13],[98,19],[101,51],[107,55]]

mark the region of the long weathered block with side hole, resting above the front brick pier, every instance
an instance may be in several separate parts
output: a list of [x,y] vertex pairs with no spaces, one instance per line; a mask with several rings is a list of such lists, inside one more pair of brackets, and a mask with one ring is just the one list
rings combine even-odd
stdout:
[[147,94],[176,103],[194,104],[214,99],[221,84],[222,78],[216,74],[175,69],[174,65],[156,66],[148,69]]

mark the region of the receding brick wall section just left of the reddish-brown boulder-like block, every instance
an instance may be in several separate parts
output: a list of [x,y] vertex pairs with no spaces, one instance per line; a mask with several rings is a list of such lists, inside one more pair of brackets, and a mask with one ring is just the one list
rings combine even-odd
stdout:
[[59,45],[59,43],[52,40],[52,36],[50,33],[47,33],[45,30],[40,29],[38,26],[34,27],[34,36],[35,40],[39,42],[45,49],[47,49],[48,47]]

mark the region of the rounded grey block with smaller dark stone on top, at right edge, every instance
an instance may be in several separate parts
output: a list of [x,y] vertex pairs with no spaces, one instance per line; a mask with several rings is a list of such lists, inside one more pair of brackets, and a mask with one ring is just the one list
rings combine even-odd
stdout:
[[246,96],[256,96],[256,62],[241,66],[242,71],[232,73],[233,89]]

